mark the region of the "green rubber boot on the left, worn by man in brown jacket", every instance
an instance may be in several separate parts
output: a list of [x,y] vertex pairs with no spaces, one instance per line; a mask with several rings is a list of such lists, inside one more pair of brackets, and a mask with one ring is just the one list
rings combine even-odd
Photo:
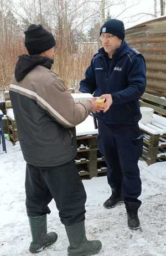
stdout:
[[31,253],[39,253],[46,246],[56,242],[58,235],[55,232],[47,233],[46,215],[28,218],[32,234],[32,242],[29,247]]

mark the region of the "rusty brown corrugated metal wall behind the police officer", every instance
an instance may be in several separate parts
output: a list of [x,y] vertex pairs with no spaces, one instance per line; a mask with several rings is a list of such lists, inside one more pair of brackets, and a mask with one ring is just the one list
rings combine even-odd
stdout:
[[146,92],[166,97],[166,17],[127,29],[125,40],[146,59]]

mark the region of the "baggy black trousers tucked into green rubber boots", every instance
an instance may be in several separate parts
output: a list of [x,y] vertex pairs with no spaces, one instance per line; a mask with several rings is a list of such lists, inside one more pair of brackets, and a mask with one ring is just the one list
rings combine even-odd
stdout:
[[25,192],[29,217],[50,213],[54,198],[61,223],[70,226],[85,219],[86,192],[74,160],[43,168],[27,163]]

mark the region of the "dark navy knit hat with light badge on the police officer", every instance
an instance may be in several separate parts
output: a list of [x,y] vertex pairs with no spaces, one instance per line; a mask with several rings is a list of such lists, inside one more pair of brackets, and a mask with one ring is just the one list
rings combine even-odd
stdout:
[[105,22],[100,29],[100,35],[101,33],[110,33],[116,35],[118,38],[121,38],[122,40],[125,39],[124,24],[122,21],[119,21],[118,19],[110,19],[110,21]]

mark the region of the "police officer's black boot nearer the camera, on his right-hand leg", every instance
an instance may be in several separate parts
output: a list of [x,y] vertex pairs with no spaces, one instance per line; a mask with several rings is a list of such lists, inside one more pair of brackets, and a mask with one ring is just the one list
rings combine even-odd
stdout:
[[130,229],[140,228],[140,222],[138,218],[138,209],[141,206],[141,203],[127,202],[125,204],[126,204],[126,210],[127,210],[128,227]]

